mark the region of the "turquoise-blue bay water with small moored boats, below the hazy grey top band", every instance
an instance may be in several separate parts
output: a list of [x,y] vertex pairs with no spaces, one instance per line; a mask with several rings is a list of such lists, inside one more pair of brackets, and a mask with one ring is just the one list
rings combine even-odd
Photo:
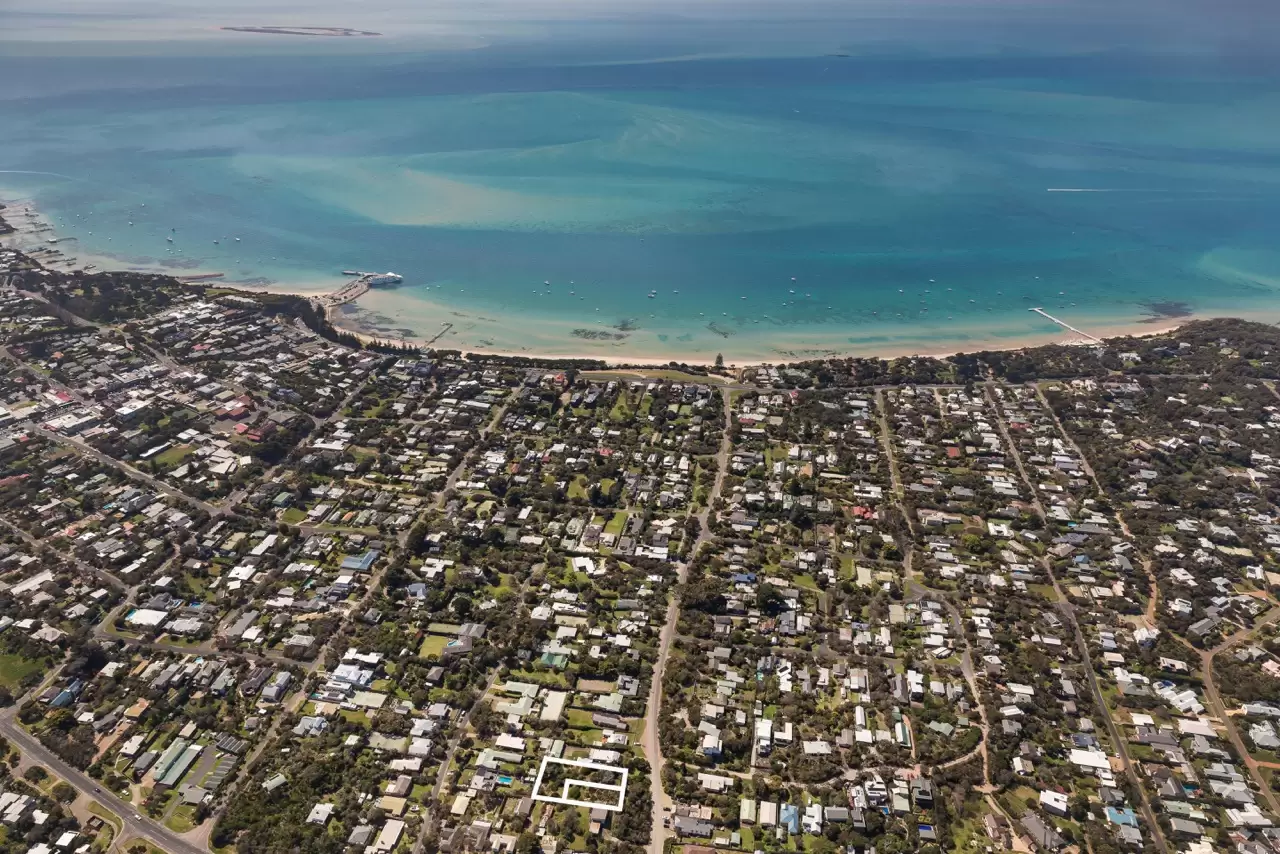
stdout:
[[581,35],[554,59],[13,56],[0,73],[50,91],[0,101],[0,195],[122,262],[282,287],[394,270],[352,320],[451,323],[440,343],[472,348],[938,352],[1052,332],[1037,305],[1085,328],[1274,311],[1275,60],[1039,35],[639,63]]

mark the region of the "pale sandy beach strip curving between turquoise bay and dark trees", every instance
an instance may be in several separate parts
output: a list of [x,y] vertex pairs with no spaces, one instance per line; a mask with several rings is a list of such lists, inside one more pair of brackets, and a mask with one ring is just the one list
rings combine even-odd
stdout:
[[[13,248],[28,252],[35,246],[49,245],[50,238],[54,238],[54,246],[61,250],[61,241],[56,238],[56,233],[52,230],[55,228],[54,223],[45,216],[40,209],[36,206],[35,201],[27,197],[0,198],[0,202],[6,205],[5,211],[10,215],[5,219],[14,228],[10,234],[0,236],[0,242]],[[68,238],[63,238],[68,239]],[[69,238],[76,239],[76,238]],[[76,247],[79,247],[78,239]],[[67,250],[61,250],[67,252]],[[93,271],[105,270],[133,270],[145,273],[156,273],[161,275],[170,275],[175,279],[196,279],[192,284],[204,284],[206,287],[228,289],[228,291],[241,291],[244,293],[282,293],[293,294],[300,297],[315,298],[329,293],[333,293],[340,288],[347,279],[334,277],[330,282],[316,282],[301,283],[301,282],[244,282],[244,280],[227,280],[220,278],[219,270],[206,270],[202,268],[189,268],[182,269],[175,268],[175,265],[164,265],[156,262],[129,262],[128,259],[122,259],[119,256],[104,255],[99,252],[76,252],[69,256],[69,254],[58,256],[41,256],[37,260],[55,270],[72,271],[83,270],[86,265],[93,265]],[[148,259],[150,260],[150,259]],[[205,277],[204,280],[198,280],[200,277]],[[319,277],[317,277],[319,278]],[[374,298],[385,298],[388,292],[370,291],[370,293],[376,293],[381,296],[375,296]],[[344,305],[326,305],[324,306],[324,314],[329,323],[338,330],[356,337],[361,343],[370,344],[410,344],[416,347],[428,347],[428,341],[430,338],[421,332],[411,335],[398,335],[387,334],[380,328],[362,323],[358,319],[351,316],[352,311],[367,311],[370,314],[376,314],[375,310],[370,309],[367,305],[362,306],[361,302],[365,301],[367,294]],[[480,319],[486,321],[493,321],[490,318],[483,318],[481,315],[465,314],[463,311],[445,306],[443,303],[435,303],[430,301],[417,301],[419,306],[424,306],[440,316],[458,318],[458,324],[467,320]],[[343,307],[348,306],[344,311]],[[1198,319],[1206,319],[1208,316],[1228,316],[1219,314],[1204,314],[1204,312],[1192,312],[1187,316],[1179,318],[1151,318],[1148,320],[1111,320],[1105,319],[1069,319],[1073,325],[1078,325],[1080,332],[1087,333],[1091,337],[1100,339],[1114,339],[1114,338],[1146,338],[1169,334],[1170,332],[1178,329],[1185,323]],[[1277,319],[1280,319],[1280,312],[1277,312]],[[453,321],[447,321],[453,324]],[[443,324],[442,324],[443,325]],[[572,325],[572,323],[567,324]],[[735,367],[749,367],[755,365],[783,365],[800,361],[813,361],[822,359],[902,359],[902,357],[933,357],[933,359],[947,359],[957,353],[974,353],[974,352],[1015,352],[1020,350],[1027,350],[1032,347],[1042,347],[1047,344],[1061,344],[1061,346],[1096,346],[1096,342],[1076,335],[1068,329],[1059,329],[1057,332],[1046,333],[1027,333],[1012,337],[1000,337],[995,335],[993,330],[996,324],[989,324],[987,326],[973,328],[970,332],[975,333],[965,335],[961,329],[956,329],[956,337],[948,339],[945,335],[940,335],[936,342],[931,342],[928,347],[922,347],[919,344],[897,343],[891,341],[882,343],[869,343],[869,344],[850,344],[847,342],[833,341],[832,346],[828,347],[800,347],[795,351],[780,352],[776,357],[769,357],[759,352],[739,352],[733,353],[731,347],[721,348],[723,352],[723,361],[726,365]],[[563,335],[559,335],[563,337]],[[954,346],[947,346],[948,341],[954,341]],[[730,342],[726,342],[730,343]],[[778,341],[778,343],[785,343]],[[809,342],[812,343],[812,342]],[[637,346],[637,342],[631,342],[630,344],[611,342],[607,344],[607,350],[591,350],[584,347],[581,350],[573,347],[566,347],[561,350],[559,347],[529,347],[518,348],[511,346],[484,346],[484,344],[462,344],[452,343],[447,339],[442,341],[438,335],[434,343],[430,344],[435,350],[453,350],[465,353],[475,353],[479,356],[494,356],[503,359],[530,359],[530,360],[548,360],[548,361],[561,361],[561,360],[584,360],[584,361],[599,361],[609,366],[668,366],[671,364],[686,364],[686,365],[710,365],[714,361],[714,356],[707,350],[703,351],[680,351],[672,350],[663,353],[654,353],[646,347]],[[630,347],[630,352],[627,351]],[[648,352],[646,352],[648,351]]]

